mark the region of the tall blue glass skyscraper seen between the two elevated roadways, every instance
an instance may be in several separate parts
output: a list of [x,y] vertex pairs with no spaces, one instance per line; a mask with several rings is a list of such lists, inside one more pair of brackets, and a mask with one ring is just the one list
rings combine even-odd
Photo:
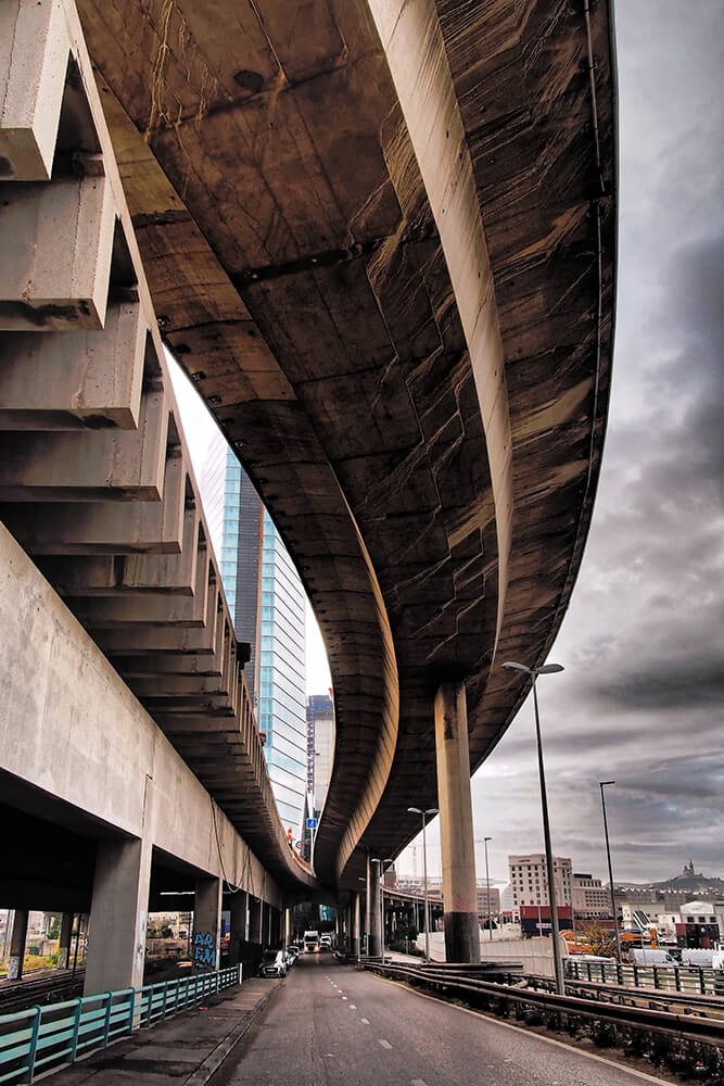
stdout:
[[306,790],[305,593],[274,522],[219,435],[200,482],[237,641],[250,645],[254,700],[275,798],[299,838]]

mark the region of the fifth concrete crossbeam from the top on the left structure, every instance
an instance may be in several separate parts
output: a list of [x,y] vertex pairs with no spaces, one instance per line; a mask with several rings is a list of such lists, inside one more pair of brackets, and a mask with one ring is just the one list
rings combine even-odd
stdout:
[[186,478],[186,462],[175,452],[166,460],[161,502],[50,502],[41,510],[9,504],[4,519],[31,554],[178,554]]

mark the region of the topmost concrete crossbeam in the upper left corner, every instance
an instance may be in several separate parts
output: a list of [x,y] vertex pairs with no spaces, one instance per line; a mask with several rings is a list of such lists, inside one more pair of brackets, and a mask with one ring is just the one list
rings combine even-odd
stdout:
[[69,47],[60,0],[0,5],[0,176],[50,180]]

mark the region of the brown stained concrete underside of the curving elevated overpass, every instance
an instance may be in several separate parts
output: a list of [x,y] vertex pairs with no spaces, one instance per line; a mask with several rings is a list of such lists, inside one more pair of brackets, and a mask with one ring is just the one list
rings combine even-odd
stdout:
[[606,422],[608,4],[80,0],[158,323],[258,487],[334,682],[327,883],[470,763],[567,607]]

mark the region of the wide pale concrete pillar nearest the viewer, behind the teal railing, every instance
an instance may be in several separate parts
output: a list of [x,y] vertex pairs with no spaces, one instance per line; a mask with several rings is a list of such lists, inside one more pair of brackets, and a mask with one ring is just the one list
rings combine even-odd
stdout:
[[[100,842],[85,995],[142,986],[150,882],[150,844],[139,839]],[[80,929],[80,918],[78,925]]]

